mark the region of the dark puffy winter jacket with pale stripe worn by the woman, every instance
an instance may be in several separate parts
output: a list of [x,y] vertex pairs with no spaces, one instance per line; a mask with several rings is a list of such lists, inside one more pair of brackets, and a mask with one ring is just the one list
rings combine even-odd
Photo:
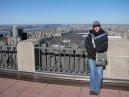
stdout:
[[[95,42],[95,47],[92,43],[92,37]],[[94,30],[90,30],[88,36],[85,41],[85,48],[88,53],[89,59],[95,60],[96,52],[102,53],[106,52],[108,49],[108,35],[103,29],[100,29],[98,33]]]

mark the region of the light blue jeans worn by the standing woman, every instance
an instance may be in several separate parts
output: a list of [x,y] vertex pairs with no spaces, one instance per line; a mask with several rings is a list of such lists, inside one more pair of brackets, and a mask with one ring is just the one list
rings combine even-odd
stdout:
[[103,66],[96,66],[93,59],[88,59],[90,66],[90,91],[100,92],[103,78]]

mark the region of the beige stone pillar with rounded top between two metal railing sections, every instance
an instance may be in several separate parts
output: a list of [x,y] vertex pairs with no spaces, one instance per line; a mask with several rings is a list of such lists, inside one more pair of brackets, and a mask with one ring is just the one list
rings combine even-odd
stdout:
[[39,43],[37,39],[21,41],[17,45],[18,70],[35,72],[35,51],[34,46]]

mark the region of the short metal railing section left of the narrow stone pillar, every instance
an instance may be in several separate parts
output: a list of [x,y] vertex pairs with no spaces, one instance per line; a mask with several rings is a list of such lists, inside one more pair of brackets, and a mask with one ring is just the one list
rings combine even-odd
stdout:
[[16,56],[15,46],[0,46],[0,68],[17,69]]

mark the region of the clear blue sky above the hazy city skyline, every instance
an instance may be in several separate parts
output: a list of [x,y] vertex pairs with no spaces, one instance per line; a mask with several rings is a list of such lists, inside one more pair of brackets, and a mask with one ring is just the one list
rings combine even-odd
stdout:
[[0,0],[0,24],[129,24],[129,0]]

